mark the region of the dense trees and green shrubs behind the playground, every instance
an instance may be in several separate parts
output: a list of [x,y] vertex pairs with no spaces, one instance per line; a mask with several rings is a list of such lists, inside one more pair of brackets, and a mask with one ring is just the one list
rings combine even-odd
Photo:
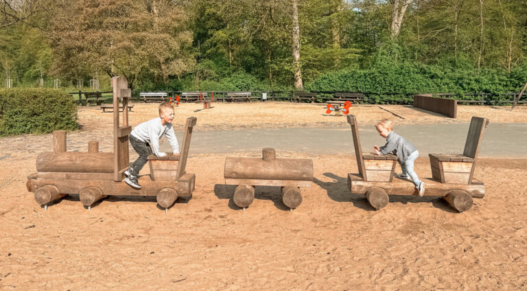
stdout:
[[518,92],[527,0],[0,2],[2,82],[114,75],[134,92]]

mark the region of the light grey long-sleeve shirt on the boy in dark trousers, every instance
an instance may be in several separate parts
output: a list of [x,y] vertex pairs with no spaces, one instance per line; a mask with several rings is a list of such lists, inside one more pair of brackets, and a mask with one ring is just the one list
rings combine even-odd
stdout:
[[174,128],[172,124],[161,124],[161,117],[150,119],[142,124],[139,124],[130,132],[136,139],[150,143],[152,146],[152,152],[156,156],[164,156],[164,152],[159,152],[159,139],[165,135],[174,150],[174,154],[179,153],[179,144],[176,134],[174,134]]

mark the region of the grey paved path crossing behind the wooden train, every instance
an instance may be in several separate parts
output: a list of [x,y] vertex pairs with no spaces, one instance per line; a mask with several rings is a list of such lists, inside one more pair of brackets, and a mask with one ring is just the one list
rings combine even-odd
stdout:
[[[383,146],[385,139],[373,126],[359,128],[363,151],[373,145]],[[395,128],[413,143],[421,156],[429,153],[462,153],[469,124],[407,125]],[[485,129],[480,156],[527,158],[527,124],[489,124]],[[179,142],[183,133],[176,132]],[[353,152],[351,129],[339,128],[283,128],[274,130],[218,130],[196,131],[192,135],[191,154],[259,152],[275,148],[307,154],[346,154]],[[171,150],[166,141],[161,150]]]

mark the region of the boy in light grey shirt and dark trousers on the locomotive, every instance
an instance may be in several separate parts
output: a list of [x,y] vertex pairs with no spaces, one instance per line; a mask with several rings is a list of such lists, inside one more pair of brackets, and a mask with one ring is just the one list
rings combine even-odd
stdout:
[[124,172],[126,178],[124,182],[134,189],[141,189],[137,181],[139,171],[148,161],[147,157],[154,153],[156,156],[166,156],[164,152],[159,152],[159,139],[165,135],[170,146],[174,150],[174,156],[179,156],[178,139],[172,128],[174,120],[174,107],[172,104],[163,102],[159,105],[159,117],[145,121],[139,124],[130,132],[130,144],[139,158]]

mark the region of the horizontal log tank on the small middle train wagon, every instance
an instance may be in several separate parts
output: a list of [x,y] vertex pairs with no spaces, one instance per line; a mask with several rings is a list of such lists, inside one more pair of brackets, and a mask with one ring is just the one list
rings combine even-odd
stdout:
[[224,178],[313,181],[313,161],[227,157]]

